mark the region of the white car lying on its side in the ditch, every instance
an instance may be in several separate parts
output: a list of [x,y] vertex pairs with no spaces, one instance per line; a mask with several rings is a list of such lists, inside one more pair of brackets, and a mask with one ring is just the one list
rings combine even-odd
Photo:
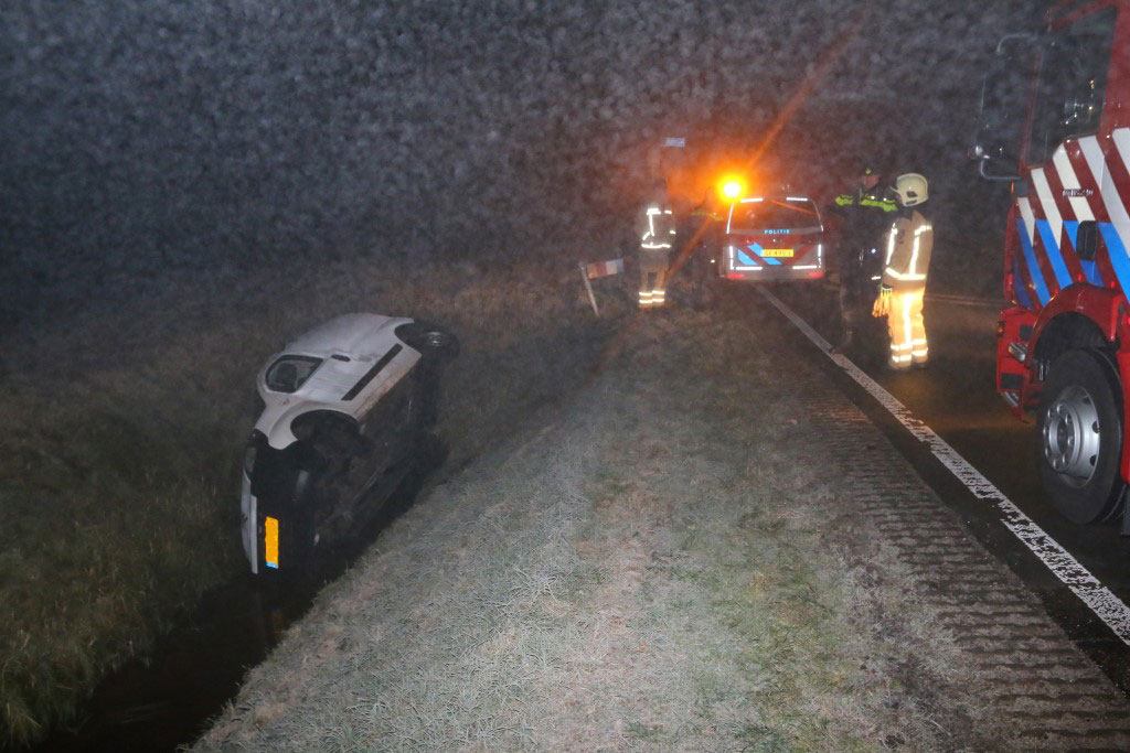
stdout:
[[259,373],[264,409],[243,462],[243,549],[254,573],[301,573],[412,470],[455,339],[411,318],[347,314]]

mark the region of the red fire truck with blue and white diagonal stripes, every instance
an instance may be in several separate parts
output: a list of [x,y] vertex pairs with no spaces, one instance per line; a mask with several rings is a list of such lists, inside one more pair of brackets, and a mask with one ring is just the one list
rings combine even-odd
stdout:
[[1035,414],[1055,508],[1110,519],[1130,497],[1130,0],[1060,2],[986,70],[973,156],[1012,199],[997,389]]

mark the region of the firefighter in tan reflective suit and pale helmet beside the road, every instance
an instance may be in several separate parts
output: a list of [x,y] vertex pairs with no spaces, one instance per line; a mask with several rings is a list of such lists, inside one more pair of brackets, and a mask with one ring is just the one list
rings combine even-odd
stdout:
[[916,209],[927,200],[925,178],[918,173],[895,181],[898,219],[887,236],[886,268],[872,314],[887,317],[890,366],[905,369],[925,364],[929,349],[922,321],[922,298],[933,251],[933,228]]

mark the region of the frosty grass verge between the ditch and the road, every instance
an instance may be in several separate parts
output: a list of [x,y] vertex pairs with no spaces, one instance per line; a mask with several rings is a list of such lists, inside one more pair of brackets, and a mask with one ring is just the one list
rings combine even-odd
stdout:
[[323,592],[198,748],[939,747],[898,667],[945,676],[950,639],[818,462],[811,371],[716,314],[635,325]]

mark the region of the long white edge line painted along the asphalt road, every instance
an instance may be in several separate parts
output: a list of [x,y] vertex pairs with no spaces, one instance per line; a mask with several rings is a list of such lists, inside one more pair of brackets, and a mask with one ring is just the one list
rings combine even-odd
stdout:
[[1037,526],[1032,518],[1025,515],[1020,508],[1003,494],[989,479],[984,478],[980,471],[962,457],[956,449],[935,434],[933,429],[925,422],[916,418],[905,405],[884,389],[875,379],[864,374],[843,353],[834,352],[820,333],[809,326],[808,322],[800,318],[791,308],[784,305],[776,296],[759,288],[760,294],[788,317],[793,325],[805,333],[817,348],[823,350],[836,366],[842,368],[847,376],[863,387],[872,397],[887,409],[887,411],[898,420],[916,439],[930,448],[933,456],[942,465],[949,469],[958,481],[973,492],[977,499],[992,502],[1002,515],[1005,526],[1027,546],[1033,554],[1040,558],[1049,570],[1059,578],[1063,585],[1086,604],[1099,620],[1114,631],[1114,634],[1130,645],[1130,608],[1115,596],[1110,588],[1098,581],[1087,568],[1083,567],[1063,546]]

